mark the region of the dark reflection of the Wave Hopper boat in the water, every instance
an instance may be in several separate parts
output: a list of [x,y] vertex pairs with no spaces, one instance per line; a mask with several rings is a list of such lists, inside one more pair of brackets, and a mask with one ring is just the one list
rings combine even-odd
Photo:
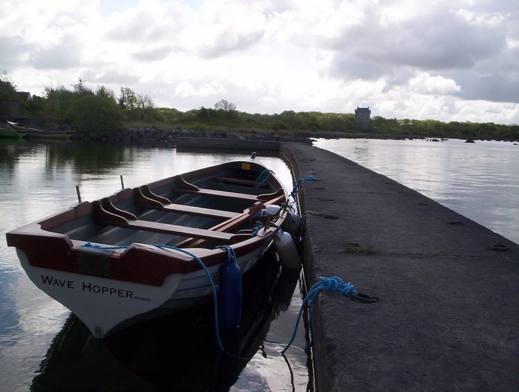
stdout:
[[244,277],[240,328],[221,331],[224,348],[245,360],[218,347],[211,305],[134,325],[102,341],[92,339],[83,323],[71,316],[49,348],[31,390],[229,390],[276,317],[272,299],[290,302],[299,277],[294,270],[280,274],[274,252],[267,252],[251,272]]

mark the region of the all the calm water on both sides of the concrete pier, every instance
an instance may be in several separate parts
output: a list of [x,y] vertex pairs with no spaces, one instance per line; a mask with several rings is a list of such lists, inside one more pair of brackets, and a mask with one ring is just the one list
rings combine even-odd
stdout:
[[[353,139],[315,144],[519,242],[519,146],[513,143]],[[282,273],[276,280],[268,265],[262,271],[262,277],[272,279],[272,291],[252,293],[250,303],[270,301],[264,308],[248,307],[250,333],[244,339],[227,336],[224,342],[231,350],[242,347],[240,353],[250,358],[237,361],[222,356],[215,346],[211,308],[186,314],[182,322],[161,319],[92,344],[81,323],[26,278],[5,242],[10,229],[76,204],[76,185],[84,200],[92,200],[117,191],[120,175],[126,187],[133,187],[243,156],[0,139],[0,390],[23,391],[31,385],[52,390],[60,383],[81,389],[96,377],[112,383],[106,384],[112,390],[127,385],[200,390],[200,382],[210,390],[306,390],[306,354],[294,348],[283,357],[281,345],[267,343],[290,339],[302,302],[297,273]],[[280,159],[261,160],[286,186],[292,185]],[[295,344],[305,343],[300,326]]]

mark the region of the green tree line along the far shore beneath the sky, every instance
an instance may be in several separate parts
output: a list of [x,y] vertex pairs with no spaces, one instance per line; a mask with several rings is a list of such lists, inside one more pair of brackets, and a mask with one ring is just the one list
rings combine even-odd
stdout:
[[[0,101],[18,99],[16,85],[0,75]],[[357,124],[353,113],[284,111],[279,114],[245,113],[222,99],[214,108],[201,106],[185,112],[157,107],[147,95],[121,87],[119,95],[104,86],[95,90],[86,80],[65,87],[45,87],[42,97],[21,101],[21,115],[46,118],[55,125],[70,125],[89,137],[109,136],[124,128],[151,126],[198,131],[236,130],[240,133],[298,134],[306,137],[438,137],[465,139],[519,139],[519,126],[469,121],[387,119],[375,116]],[[0,115],[5,115],[1,113]]]

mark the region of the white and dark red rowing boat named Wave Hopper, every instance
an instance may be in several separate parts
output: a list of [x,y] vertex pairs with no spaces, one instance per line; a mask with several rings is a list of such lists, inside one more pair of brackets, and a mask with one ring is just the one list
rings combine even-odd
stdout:
[[255,158],[232,161],[79,202],[7,233],[7,245],[101,339],[212,300],[208,274],[218,288],[230,253],[247,273],[288,217],[288,198]]

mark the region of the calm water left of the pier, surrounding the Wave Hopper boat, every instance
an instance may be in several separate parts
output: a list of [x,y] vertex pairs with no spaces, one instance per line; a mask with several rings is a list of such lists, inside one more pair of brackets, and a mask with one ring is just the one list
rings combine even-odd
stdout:
[[[250,328],[243,339],[226,337],[231,351],[241,347],[241,355],[250,358],[238,361],[218,353],[211,307],[202,309],[201,315],[186,314],[182,323],[165,318],[94,344],[83,325],[75,317],[69,318],[69,310],[25,276],[15,250],[5,240],[10,229],[75,205],[76,185],[83,200],[93,200],[116,192],[120,175],[125,187],[134,187],[249,155],[0,139],[0,390],[28,390],[31,384],[37,390],[55,390],[60,385],[82,389],[81,385],[90,385],[95,377],[105,377],[108,390],[124,388],[130,382],[143,389],[153,385],[190,390],[201,382],[209,390],[306,390],[307,355],[294,348],[281,356],[282,345],[265,342],[290,340],[302,303],[297,273],[282,273],[276,279],[277,269],[269,269],[271,286],[257,287],[271,287],[274,292],[251,293],[251,304],[264,303],[265,298],[258,299],[260,295],[270,301],[264,308],[248,307]],[[292,186],[281,159],[260,159],[285,186]],[[298,331],[294,344],[305,346],[304,328],[300,326]]]

